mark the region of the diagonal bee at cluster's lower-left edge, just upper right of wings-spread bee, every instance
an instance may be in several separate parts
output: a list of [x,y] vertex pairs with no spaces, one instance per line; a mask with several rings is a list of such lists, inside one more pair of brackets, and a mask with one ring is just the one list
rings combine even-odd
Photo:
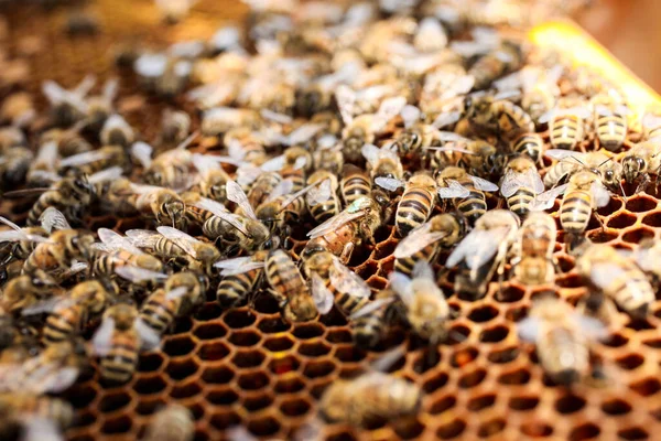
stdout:
[[174,319],[189,313],[204,302],[207,282],[193,272],[177,272],[165,287],[151,293],[140,309],[140,319],[158,334],[163,334]]

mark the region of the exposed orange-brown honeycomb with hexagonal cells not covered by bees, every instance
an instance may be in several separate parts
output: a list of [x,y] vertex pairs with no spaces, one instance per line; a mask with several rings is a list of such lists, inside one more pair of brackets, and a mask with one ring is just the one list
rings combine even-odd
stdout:
[[[67,2],[68,3],[68,2]],[[181,39],[208,36],[224,21],[246,9],[234,1],[198,1],[184,22],[164,29],[148,0],[98,0],[74,3],[96,14],[101,30],[94,36],[67,36],[63,23],[71,6],[44,9],[36,3],[4,7],[4,44],[10,56],[29,60],[23,87],[39,93],[43,79],[66,87],[85,74],[99,79],[118,75],[110,52],[116,43],[145,41],[162,46]],[[120,109],[148,141],[163,103],[144,96],[130,77],[121,78]],[[41,103],[43,105],[43,103]],[[588,141],[589,142],[589,141]],[[627,189],[629,192],[632,189]],[[661,239],[661,200],[653,190],[613,198],[593,217],[587,236],[596,243],[632,248],[643,238]],[[25,204],[4,202],[2,215],[24,218]],[[559,208],[557,202],[553,212]],[[602,229],[597,217],[604,224]],[[88,218],[89,228],[123,232],[140,227],[134,218]],[[303,234],[294,235],[300,251]],[[360,249],[350,267],[380,289],[392,270],[397,239],[391,225],[379,229],[377,245]],[[613,366],[613,383],[603,389],[578,384],[554,386],[537,362],[534,347],[522,345],[514,322],[527,314],[535,297],[552,291],[576,303],[587,293],[565,254],[556,246],[562,272],[551,287],[525,288],[491,283],[478,301],[449,298],[459,311],[452,330],[465,340],[437,348],[430,364],[426,346],[394,327],[373,352],[351,344],[346,320],[332,312],[316,321],[289,324],[266,295],[252,308],[223,311],[209,299],[194,315],[177,320],[160,352],[144,353],[134,377],[108,387],[95,366],[64,394],[76,409],[77,421],[66,432],[72,441],[133,440],[142,435],[150,416],[167,402],[180,402],[195,417],[196,440],[224,439],[227,428],[242,424],[257,437],[288,439],[317,411],[323,390],[337,378],[368,368],[383,352],[402,347],[405,356],[390,372],[415,381],[424,390],[421,412],[411,418],[382,421],[356,429],[343,424],[324,428],[324,439],[653,439],[661,431],[661,297],[644,321],[619,313],[621,326],[595,352]],[[452,273],[441,286],[452,292]]]

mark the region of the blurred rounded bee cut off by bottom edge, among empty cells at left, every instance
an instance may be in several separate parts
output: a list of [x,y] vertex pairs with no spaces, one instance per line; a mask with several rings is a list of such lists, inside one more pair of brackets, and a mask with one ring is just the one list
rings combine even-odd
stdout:
[[193,413],[181,405],[167,405],[159,410],[147,427],[144,441],[193,441]]

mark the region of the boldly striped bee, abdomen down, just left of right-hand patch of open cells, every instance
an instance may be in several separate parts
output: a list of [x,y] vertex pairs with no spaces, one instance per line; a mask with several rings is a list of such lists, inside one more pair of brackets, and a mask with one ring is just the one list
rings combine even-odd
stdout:
[[[559,189],[559,187],[556,187]],[[610,193],[602,179],[590,170],[570,178],[560,206],[560,224],[565,233],[581,235],[587,228],[594,209],[608,205]]]

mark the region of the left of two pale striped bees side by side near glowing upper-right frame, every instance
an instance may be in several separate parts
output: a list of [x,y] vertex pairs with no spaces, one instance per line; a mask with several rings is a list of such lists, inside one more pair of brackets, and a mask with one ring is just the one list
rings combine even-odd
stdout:
[[574,150],[585,138],[589,109],[581,105],[570,107],[570,103],[561,101],[539,118],[540,123],[549,122],[551,144],[556,149]]

